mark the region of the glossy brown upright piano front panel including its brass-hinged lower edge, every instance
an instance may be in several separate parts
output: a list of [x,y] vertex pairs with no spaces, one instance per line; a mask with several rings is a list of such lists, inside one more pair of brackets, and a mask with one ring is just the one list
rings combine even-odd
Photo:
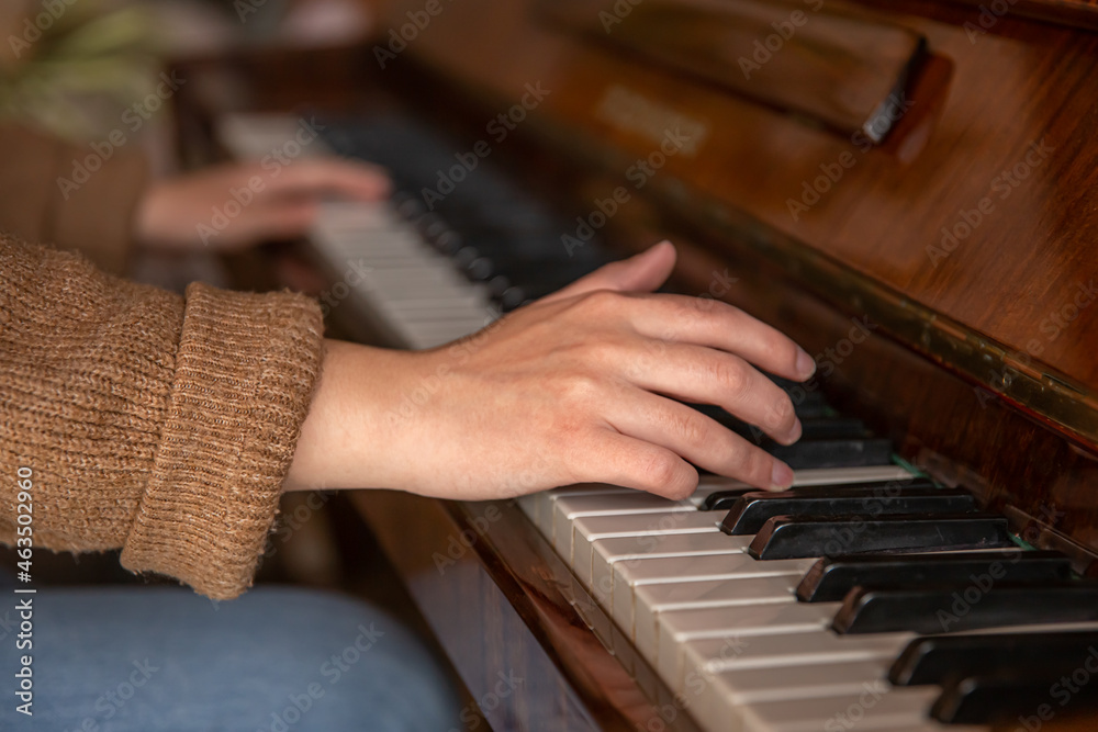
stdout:
[[[446,4],[408,53],[496,104],[540,83],[548,91],[524,125],[630,191],[645,178],[643,193],[1095,451],[1098,35],[1010,14],[983,27],[965,3],[828,2],[908,43],[904,53],[926,49],[890,97],[894,128],[874,144],[765,92],[623,52],[538,4]],[[788,14],[798,3],[770,4]],[[621,21],[608,35],[634,8],[594,5]],[[1071,12],[1090,18],[1091,4]],[[672,128],[686,143],[659,174],[630,180]]]

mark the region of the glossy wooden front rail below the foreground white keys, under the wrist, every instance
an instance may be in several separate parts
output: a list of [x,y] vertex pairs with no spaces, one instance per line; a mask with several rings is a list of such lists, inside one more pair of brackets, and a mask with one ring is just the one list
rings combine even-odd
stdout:
[[351,496],[492,729],[698,732],[513,500]]

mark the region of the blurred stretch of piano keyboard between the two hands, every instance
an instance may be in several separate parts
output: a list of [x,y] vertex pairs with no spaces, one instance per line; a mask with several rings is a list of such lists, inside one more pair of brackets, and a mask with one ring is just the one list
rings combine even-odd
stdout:
[[452,190],[439,176],[453,150],[422,124],[400,116],[332,123],[339,154],[385,166],[399,191],[377,206],[329,204],[312,237],[335,271],[361,259],[372,271],[354,288],[410,348],[432,348],[474,333],[502,313],[549,294],[609,261],[597,241],[565,252],[562,221],[488,160]]

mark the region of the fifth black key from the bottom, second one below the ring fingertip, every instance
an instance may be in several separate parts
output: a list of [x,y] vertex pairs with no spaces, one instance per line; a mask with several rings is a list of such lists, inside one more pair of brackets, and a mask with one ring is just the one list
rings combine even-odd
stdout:
[[775,516],[763,525],[748,551],[757,560],[784,560],[1013,545],[1007,519],[996,514]]

